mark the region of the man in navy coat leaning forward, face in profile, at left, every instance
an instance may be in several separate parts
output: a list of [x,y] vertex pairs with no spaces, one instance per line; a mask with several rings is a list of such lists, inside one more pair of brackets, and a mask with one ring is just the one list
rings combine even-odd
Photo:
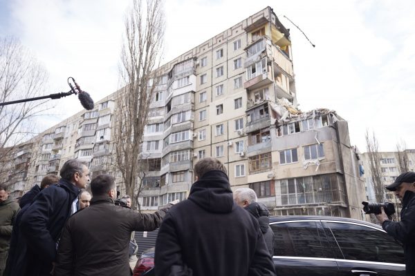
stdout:
[[16,254],[8,260],[7,276],[50,276],[53,271],[62,228],[77,209],[80,189],[89,182],[88,167],[77,159],[66,161],[59,173],[59,183],[42,190],[21,211]]

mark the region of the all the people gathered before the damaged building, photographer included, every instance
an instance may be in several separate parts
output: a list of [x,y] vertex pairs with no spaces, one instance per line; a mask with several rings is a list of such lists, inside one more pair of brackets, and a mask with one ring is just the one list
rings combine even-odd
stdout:
[[[89,168],[77,159],[66,161],[59,175],[46,175],[19,204],[0,184],[0,276],[131,275],[133,231],[156,228],[156,275],[275,275],[268,209],[250,188],[232,193],[217,159],[199,160],[187,199],[153,214],[132,210],[128,195],[122,206],[114,204],[115,179],[98,175],[89,184]],[[390,221],[383,211],[376,217],[404,244],[407,275],[414,275],[415,173],[387,189],[403,201],[401,220]]]

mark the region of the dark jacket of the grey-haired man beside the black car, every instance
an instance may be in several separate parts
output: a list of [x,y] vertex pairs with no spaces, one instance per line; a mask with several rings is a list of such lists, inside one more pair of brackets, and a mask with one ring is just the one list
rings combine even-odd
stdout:
[[270,212],[264,204],[253,202],[244,208],[251,215],[253,215],[259,222],[259,228],[261,228],[262,235],[264,235],[266,247],[270,252],[270,255],[274,255],[274,232],[270,228]]

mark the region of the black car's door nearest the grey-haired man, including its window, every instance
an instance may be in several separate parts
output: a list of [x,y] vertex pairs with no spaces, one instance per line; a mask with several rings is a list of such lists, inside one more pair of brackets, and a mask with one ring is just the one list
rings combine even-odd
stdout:
[[338,274],[320,221],[278,221],[270,226],[275,235],[273,262],[277,275]]

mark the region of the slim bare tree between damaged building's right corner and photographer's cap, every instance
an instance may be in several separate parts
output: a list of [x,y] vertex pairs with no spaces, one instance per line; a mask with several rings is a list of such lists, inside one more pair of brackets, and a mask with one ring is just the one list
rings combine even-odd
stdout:
[[385,200],[385,187],[382,184],[378,139],[376,139],[374,132],[370,137],[368,130],[366,130],[365,138],[367,155],[369,157],[368,161],[371,172],[371,181],[375,190],[375,198],[377,202],[383,202]]

